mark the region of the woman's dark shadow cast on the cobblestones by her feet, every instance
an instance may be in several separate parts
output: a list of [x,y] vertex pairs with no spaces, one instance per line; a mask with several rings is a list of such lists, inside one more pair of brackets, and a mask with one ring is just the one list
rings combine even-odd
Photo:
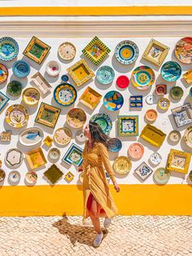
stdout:
[[[68,221],[68,216],[63,215],[63,218],[53,223],[53,227],[57,227],[62,235],[66,235],[72,245],[76,242],[84,245],[93,246],[93,241],[97,233],[94,227],[71,224]],[[103,239],[107,236],[107,230],[103,230]]]

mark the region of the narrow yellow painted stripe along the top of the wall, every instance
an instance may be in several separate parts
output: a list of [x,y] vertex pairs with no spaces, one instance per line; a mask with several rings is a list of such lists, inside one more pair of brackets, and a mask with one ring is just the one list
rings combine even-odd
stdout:
[[191,7],[0,7],[2,16],[192,15]]

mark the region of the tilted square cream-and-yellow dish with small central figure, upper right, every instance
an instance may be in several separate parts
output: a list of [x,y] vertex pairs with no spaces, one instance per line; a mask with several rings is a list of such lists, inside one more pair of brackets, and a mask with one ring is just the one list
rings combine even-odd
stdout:
[[168,46],[165,46],[163,43],[152,38],[148,46],[146,46],[146,50],[144,51],[142,58],[160,66],[168,55],[169,49],[170,48]]

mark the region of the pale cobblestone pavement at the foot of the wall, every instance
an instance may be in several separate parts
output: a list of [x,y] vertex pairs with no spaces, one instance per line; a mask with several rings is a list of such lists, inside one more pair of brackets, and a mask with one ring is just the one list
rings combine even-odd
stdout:
[[0,255],[192,255],[191,216],[118,215],[97,249],[95,236],[81,216],[1,217]]

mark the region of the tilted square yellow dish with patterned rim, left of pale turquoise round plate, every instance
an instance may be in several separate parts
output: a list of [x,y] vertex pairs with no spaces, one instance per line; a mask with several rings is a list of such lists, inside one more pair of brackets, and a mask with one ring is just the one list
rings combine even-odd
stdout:
[[89,68],[89,65],[84,59],[77,61],[76,64],[73,64],[67,71],[76,83],[76,86],[81,86],[94,77],[94,72]]

